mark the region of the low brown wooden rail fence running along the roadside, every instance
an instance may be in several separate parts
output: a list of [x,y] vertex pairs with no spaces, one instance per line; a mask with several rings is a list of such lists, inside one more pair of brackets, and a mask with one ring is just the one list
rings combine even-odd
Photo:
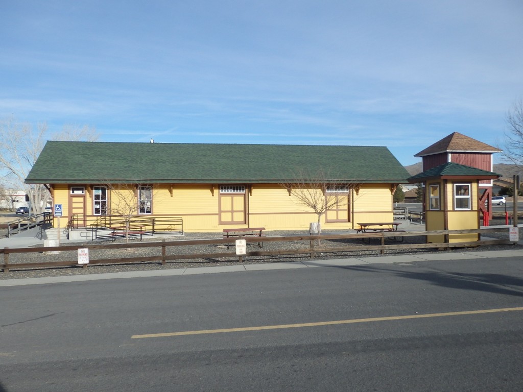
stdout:
[[[489,232],[505,231],[505,239],[486,239],[478,241],[468,241],[463,243],[437,243],[437,244],[405,244],[399,243],[399,240],[404,237],[412,236],[425,236],[427,235],[449,235],[449,234],[474,234],[481,233],[487,234]],[[447,237],[448,238],[448,237]],[[345,241],[359,239],[361,240],[357,244],[343,244]],[[374,239],[378,240],[378,244],[372,244]],[[34,268],[53,268],[53,267],[67,267],[67,266],[78,266],[78,260],[67,260],[67,261],[44,261],[44,262],[9,262],[9,255],[19,253],[48,253],[48,256],[52,259],[52,252],[61,251],[77,251],[81,248],[87,248],[90,251],[96,250],[107,250],[107,249],[134,249],[134,248],[157,248],[158,252],[155,256],[140,256],[140,257],[124,257],[124,258],[110,258],[110,259],[93,259],[89,260],[88,265],[101,265],[101,264],[128,264],[134,262],[154,262],[165,265],[167,261],[180,261],[180,260],[191,260],[191,259],[225,259],[222,261],[231,261],[231,259],[238,259],[238,261],[244,261],[248,257],[259,257],[259,256],[283,256],[283,255],[303,255],[310,254],[314,257],[315,253],[339,253],[339,252],[351,252],[351,251],[362,251],[362,250],[379,250],[383,255],[387,250],[413,250],[413,249],[450,249],[450,248],[464,248],[464,247],[476,247],[481,245],[494,245],[494,244],[512,244],[508,240],[508,228],[482,228],[482,229],[466,229],[466,230],[433,230],[430,232],[377,232],[377,233],[359,233],[359,234],[324,234],[320,236],[290,236],[290,237],[245,237],[247,243],[257,244],[258,242],[271,243],[275,241],[296,243],[302,241],[304,248],[300,249],[281,249],[285,248],[280,246],[280,250],[253,250],[248,251],[246,255],[237,256],[235,252],[227,251],[224,249],[221,252],[208,252],[208,253],[176,253],[167,254],[168,248],[177,248],[181,246],[190,247],[195,245],[207,245],[207,246],[220,246],[231,243],[231,239],[199,239],[199,240],[174,240],[174,241],[153,241],[153,242],[140,242],[140,243],[125,243],[125,244],[105,244],[105,245],[71,245],[71,246],[58,246],[58,247],[33,247],[33,248],[4,248],[0,249],[0,254],[3,253],[4,263],[0,264],[0,269],[3,272],[9,272],[9,269],[34,269]],[[316,240],[321,240],[320,245],[314,245]],[[395,244],[387,245],[385,240],[395,241]],[[329,241],[327,243],[327,241]],[[365,243],[368,241],[368,244]],[[335,245],[332,245],[335,243]],[[267,248],[267,247],[265,247]],[[257,249],[257,247],[255,248]],[[174,249],[176,251],[176,249]],[[85,268],[87,264],[84,264]]]

